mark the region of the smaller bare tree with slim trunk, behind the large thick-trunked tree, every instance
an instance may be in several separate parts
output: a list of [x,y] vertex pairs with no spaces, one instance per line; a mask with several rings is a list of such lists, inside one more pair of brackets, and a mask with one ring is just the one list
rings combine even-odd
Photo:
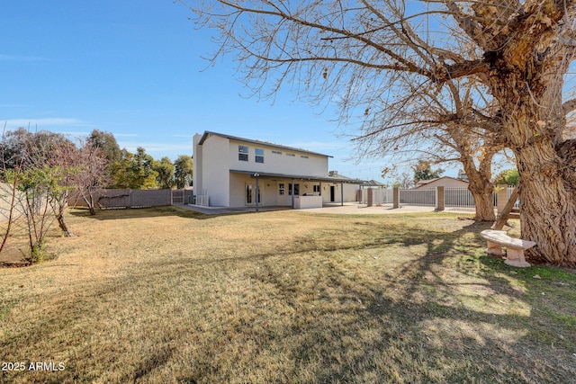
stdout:
[[[504,148],[495,131],[500,128],[500,121],[494,116],[497,104],[486,98],[475,82],[451,80],[447,85],[443,90],[414,90],[404,98],[383,103],[374,112],[379,116],[366,117],[362,134],[353,141],[366,147],[370,156],[376,156],[378,151],[392,151],[410,156],[421,154],[434,164],[462,164],[476,207],[474,219],[493,221],[492,159]],[[391,118],[393,123],[376,124]],[[400,145],[402,150],[394,150]]]

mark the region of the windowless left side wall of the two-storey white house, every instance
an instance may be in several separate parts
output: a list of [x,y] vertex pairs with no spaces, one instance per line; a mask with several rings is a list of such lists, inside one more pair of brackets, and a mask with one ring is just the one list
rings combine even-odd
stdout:
[[[229,207],[229,164],[228,158],[222,156],[229,150],[228,138],[211,136],[207,138],[202,146],[202,182],[201,189],[196,189],[196,195],[206,194],[210,196],[210,205],[212,207]],[[194,156],[195,158],[196,156]]]

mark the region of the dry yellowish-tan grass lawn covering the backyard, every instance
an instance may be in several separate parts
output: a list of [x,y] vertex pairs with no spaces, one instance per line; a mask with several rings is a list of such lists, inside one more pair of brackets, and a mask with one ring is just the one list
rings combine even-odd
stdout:
[[0,269],[0,381],[576,382],[576,274],[458,216],[71,210]]

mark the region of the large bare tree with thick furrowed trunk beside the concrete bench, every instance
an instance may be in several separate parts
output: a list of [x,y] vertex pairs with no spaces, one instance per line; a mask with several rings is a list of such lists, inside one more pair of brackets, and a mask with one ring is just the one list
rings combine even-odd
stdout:
[[289,82],[304,99],[338,101],[344,121],[410,94],[401,77],[440,91],[455,79],[479,82],[499,108],[498,124],[483,128],[513,151],[523,180],[522,235],[537,244],[529,256],[576,266],[574,164],[557,151],[576,109],[563,97],[574,0],[214,0],[193,11],[219,31],[213,58],[234,52],[255,94]]

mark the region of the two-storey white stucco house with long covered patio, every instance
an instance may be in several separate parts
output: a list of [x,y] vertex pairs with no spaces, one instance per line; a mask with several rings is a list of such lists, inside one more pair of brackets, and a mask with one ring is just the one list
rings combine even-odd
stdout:
[[332,156],[217,132],[196,134],[196,204],[298,209],[356,201],[362,182],[329,172],[329,157]]

